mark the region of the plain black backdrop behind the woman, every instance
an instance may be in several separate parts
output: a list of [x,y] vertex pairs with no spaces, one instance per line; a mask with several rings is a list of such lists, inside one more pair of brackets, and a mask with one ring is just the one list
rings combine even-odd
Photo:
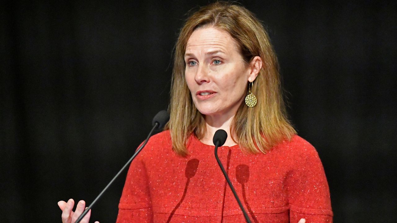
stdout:
[[[0,222],[61,222],[59,200],[95,198],[167,108],[177,33],[206,3],[2,3]],[[395,222],[396,3],[241,3],[270,33],[334,221]],[[124,179],[93,220],[115,221]]]

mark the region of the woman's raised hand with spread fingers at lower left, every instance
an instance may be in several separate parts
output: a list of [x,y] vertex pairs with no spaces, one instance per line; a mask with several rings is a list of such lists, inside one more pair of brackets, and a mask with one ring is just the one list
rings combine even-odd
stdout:
[[[73,212],[73,206],[74,206],[74,200],[69,199],[66,202],[61,200],[58,202],[59,208],[62,210],[62,223],[74,223],[77,218],[83,213],[85,209],[85,201],[81,200],[79,203],[77,203],[76,210]],[[91,210],[87,212],[87,214],[81,219],[81,223],[88,223],[90,220],[91,216]],[[99,223],[98,221],[95,221],[95,223]]]

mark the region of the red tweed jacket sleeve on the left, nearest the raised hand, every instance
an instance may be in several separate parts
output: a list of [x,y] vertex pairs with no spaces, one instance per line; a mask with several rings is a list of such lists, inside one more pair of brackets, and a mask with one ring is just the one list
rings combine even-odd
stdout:
[[119,203],[116,223],[153,222],[149,179],[141,154],[132,161]]

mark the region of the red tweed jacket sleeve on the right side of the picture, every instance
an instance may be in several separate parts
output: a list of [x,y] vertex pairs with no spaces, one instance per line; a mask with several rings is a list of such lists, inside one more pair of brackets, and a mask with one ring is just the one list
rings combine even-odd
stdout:
[[293,150],[287,176],[290,222],[301,218],[307,223],[332,222],[330,190],[317,151],[306,141]]

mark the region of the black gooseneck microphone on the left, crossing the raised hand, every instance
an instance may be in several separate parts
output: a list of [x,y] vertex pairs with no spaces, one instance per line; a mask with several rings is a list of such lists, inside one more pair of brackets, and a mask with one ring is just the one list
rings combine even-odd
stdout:
[[86,208],[85,211],[83,213],[81,213],[81,215],[79,216],[79,218],[76,220],[75,223],[79,223],[81,221],[81,219],[83,219],[83,217],[88,213],[88,211],[92,208],[92,206],[96,203],[96,201],[102,196],[102,194],[109,188],[109,186],[113,183],[113,181],[116,180],[116,178],[120,175],[121,172],[123,172],[125,167],[127,167],[128,164],[131,163],[131,161],[135,158],[135,156],[137,156],[138,153],[141,152],[143,147],[148,142],[150,136],[152,135],[154,129],[161,129],[168,122],[168,120],[170,120],[170,115],[168,114],[168,112],[166,112],[164,110],[158,112],[156,114],[156,116],[154,116],[153,121],[152,121],[153,128],[152,128],[152,130],[150,130],[150,132],[149,132],[148,136],[146,137],[145,141],[143,142],[143,144],[141,146],[139,146],[139,148],[134,153],[134,155],[127,161],[127,163],[125,163],[125,165],[120,169],[120,171],[116,174],[116,176],[113,177],[113,179],[108,183],[108,185],[105,186],[105,188],[102,190],[102,192],[100,192],[100,194],[95,198],[95,200],[90,204],[90,206],[88,206],[88,208]]

